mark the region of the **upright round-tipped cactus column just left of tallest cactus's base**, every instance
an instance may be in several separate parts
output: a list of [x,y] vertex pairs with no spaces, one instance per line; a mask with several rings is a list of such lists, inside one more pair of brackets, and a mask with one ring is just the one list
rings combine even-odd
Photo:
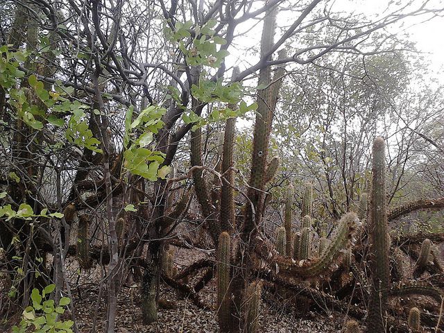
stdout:
[[230,332],[232,321],[230,313],[230,234],[222,232],[217,247],[217,304],[219,328]]

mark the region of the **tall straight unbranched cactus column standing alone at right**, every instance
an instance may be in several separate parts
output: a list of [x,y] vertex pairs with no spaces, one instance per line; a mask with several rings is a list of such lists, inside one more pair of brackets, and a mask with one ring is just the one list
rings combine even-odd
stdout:
[[384,315],[386,312],[390,268],[388,253],[388,223],[386,214],[384,139],[377,137],[373,142],[373,180],[370,200],[370,255],[373,288],[368,312],[367,332],[385,332]]

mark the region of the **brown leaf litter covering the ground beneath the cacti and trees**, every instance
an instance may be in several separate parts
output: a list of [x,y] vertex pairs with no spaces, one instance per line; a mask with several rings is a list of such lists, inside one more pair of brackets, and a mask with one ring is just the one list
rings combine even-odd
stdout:
[[[180,269],[191,264],[197,259],[210,257],[209,255],[197,251],[183,248],[176,248],[175,264]],[[99,265],[85,271],[78,271],[78,263],[74,258],[67,260],[67,275],[71,281],[71,293],[74,298],[74,311],[78,332],[92,332],[95,325],[96,332],[103,332],[105,318],[106,295],[102,289],[101,300],[98,304],[98,296],[101,283],[101,267]],[[201,275],[201,273],[200,273]],[[190,279],[190,283],[196,282],[200,275]],[[140,285],[130,283],[123,286],[117,301],[116,327],[119,333],[211,333],[219,332],[217,325],[216,311],[216,281],[213,279],[200,291],[199,296],[210,305],[211,309],[200,309],[194,303],[168,287],[161,284],[159,298],[167,300],[169,309],[159,309],[158,321],[151,325],[142,323],[142,311],[140,309]],[[2,284],[0,282],[0,284]],[[7,290],[0,286],[1,299],[5,300]],[[104,286],[103,286],[104,287]],[[274,302],[273,296],[264,293],[265,301],[259,311],[259,332],[270,333],[332,333],[341,332],[344,316],[332,314],[331,316],[321,316],[318,313],[307,312],[303,318],[295,316],[296,309],[288,302]],[[269,296],[269,297],[268,297]],[[68,311],[64,315],[68,319]],[[96,321],[94,321],[96,318]],[[0,323],[0,332],[10,332],[10,327],[14,322],[19,321],[19,314],[10,317],[7,322]],[[94,323],[95,322],[95,323]]]

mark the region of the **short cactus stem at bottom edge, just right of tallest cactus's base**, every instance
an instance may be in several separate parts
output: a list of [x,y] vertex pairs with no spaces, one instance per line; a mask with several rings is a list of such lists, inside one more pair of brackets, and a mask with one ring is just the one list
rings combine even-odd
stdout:
[[259,330],[259,307],[262,284],[252,282],[246,289],[244,299],[245,333],[257,333]]

